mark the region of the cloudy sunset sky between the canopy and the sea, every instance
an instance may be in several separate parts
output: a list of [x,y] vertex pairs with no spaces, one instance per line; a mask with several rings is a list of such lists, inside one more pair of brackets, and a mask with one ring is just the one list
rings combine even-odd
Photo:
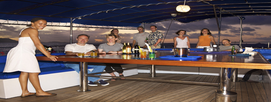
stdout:
[[[243,41],[244,42],[268,42],[271,41],[269,34],[271,29],[270,16],[244,16],[242,28],[243,28]],[[30,19],[31,20],[31,19]],[[0,20],[2,23],[3,20]],[[218,28],[216,19],[201,20],[191,23],[180,23],[171,20],[145,24],[145,32],[151,32],[150,25],[156,25],[157,30],[166,36],[164,43],[173,43],[173,37],[177,36],[175,32],[178,30],[186,30],[187,35],[190,38],[190,43],[197,43],[200,30],[208,28],[213,34],[215,41],[218,40]],[[170,25],[170,28],[169,28]],[[10,38],[18,40],[18,35],[22,29],[26,28],[25,25],[7,25],[0,24],[0,38]],[[169,31],[167,33],[167,30]],[[109,34],[111,29],[92,29],[92,28],[73,28],[73,42],[76,42],[76,36],[79,34],[87,34],[91,36],[88,43],[105,43],[105,35]],[[122,37],[122,43],[132,42],[132,37],[137,30],[119,30],[119,35]],[[167,35],[166,35],[167,33]],[[39,36],[41,42],[59,41],[70,42],[70,28],[69,27],[46,27],[43,30],[39,30]],[[225,17],[221,19],[221,35],[222,39],[230,39],[232,42],[240,40],[240,20],[238,17]]]

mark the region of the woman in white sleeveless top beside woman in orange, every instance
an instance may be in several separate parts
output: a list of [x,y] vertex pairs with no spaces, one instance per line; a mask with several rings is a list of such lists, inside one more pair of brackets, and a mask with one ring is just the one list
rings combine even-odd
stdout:
[[189,37],[188,36],[184,36],[186,35],[186,31],[185,30],[179,30],[178,32],[176,32],[177,35],[173,38],[174,41],[174,48],[190,48],[190,41],[189,41]]

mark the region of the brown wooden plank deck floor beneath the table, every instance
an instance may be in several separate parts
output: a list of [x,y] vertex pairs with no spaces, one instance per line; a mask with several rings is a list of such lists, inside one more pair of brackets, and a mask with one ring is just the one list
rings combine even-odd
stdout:
[[[148,73],[131,77],[147,78]],[[218,82],[218,76],[192,74],[156,74],[155,79]],[[240,79],[239,79],[240,80]],[[56,96],[0,98],[0,101],[215,101],[215,86],[117,80],[108,86],[88,87],[92,91],[77,92],[79,86],[52,90]],[[261,83],[236,82],[232,90],[237,101],[268,101]],[[53,84],[52,84],[53,85]]]

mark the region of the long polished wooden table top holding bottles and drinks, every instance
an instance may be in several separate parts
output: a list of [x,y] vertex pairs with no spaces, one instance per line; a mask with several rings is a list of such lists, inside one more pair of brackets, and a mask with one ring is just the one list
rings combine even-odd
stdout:
[[[184,61],[180,59],[161,59],[160,56],[173,56],[172,52],[156,52],[156,59],[140,59],[139,55],[124,54],[99,54],[98,57],[78,58],[76,56],[59,56],[58,61],[69,62],[96,62],[96,63],[120,63],[120,64],[148,64],[170,66],[193,66],[193,67],[225,67],[225,68],[249,68],[271,69],[271,64],[258,53],[255,56],[240,57],[229,56],[230,54],[193,54],[188,56],[201,56],[199,59]],[[37,57],[37,60],[51,61],[47,57]]]

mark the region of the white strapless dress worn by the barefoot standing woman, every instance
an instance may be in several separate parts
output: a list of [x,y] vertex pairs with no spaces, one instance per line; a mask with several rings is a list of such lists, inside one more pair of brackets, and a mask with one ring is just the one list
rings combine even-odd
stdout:
[[30,37],[20,37],[18,45],[8,53],[3,72],[40,72],[35,50],[36,46]]

